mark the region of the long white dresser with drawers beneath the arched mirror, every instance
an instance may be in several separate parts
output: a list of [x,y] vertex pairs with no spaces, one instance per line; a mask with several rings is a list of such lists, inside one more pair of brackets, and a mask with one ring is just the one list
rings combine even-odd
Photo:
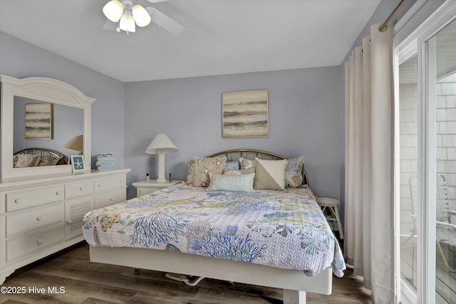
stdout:
[[17,268],[83,241],[87,211],[126,199],[130,169],[0,180],[0,285]]

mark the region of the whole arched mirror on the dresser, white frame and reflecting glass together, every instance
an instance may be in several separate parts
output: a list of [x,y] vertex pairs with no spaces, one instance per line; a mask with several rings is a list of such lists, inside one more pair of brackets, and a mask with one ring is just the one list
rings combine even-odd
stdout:
[[[61,80],[31,77],[18,79],[0,75],[1,81],[1,178],[71,172],[66,164],[70,155],[83,154],[85,167],[90,169],[90,120],[95,101]],[[82,135],[82,136],[81,136]],[[79,144],[74,145],[78,138]],[[68,142],[73,142],[68,145]],[[36,151],[30,151],[38,148]],[[31,162],[18,166],[14,153],[28,150],[41,153],[41,164]],[[58,162],[53,154],[58,152]],[[20,157],[23,159],[24,157]],[[27,159],[30,159],[28,157]],[[59,158],[59,157],[56,157]],[[42,165],[43,164],[43,165]]]

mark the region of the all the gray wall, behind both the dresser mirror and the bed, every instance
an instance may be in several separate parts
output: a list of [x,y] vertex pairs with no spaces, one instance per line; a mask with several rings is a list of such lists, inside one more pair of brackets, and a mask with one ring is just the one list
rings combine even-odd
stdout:
[[[96,98],[92,154],[113,153],[118,167],[132,168],[130,186],[144,179],[145,172],[156,177],[157,157],[144,151],[157,133],[164,132],[180,148],[166,155],[166,172],[175,179],[187,177],[187,160],[195,155],[257,148],[286,157],[304,154],[316,194],[340,197],[343,83],[339,67],[121,83],[0,33],[0,73],[56,78]],[[260,89],[269,90],[269,137],[222,139],[222,92]],[[133,187],[128,196],[135,196]]]

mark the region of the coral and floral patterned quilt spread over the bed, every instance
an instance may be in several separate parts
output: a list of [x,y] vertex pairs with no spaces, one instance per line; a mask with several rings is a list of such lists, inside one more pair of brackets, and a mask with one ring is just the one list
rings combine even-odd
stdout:
[[185,184],[88,212],[90,246],[153,248],[299,269],[346,265],[309,188],[207,191]]

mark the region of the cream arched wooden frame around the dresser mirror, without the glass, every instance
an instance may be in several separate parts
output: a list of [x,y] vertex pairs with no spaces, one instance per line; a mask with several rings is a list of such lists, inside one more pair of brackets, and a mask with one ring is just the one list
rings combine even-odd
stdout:
[[72,172],[71,165],[69,164],[47,167],[13,168],[14,96],[82,109],[84,164],[86,168],[91,168],[91,115],[92,103],[95,102],[95,98],[84,95],[80,90],[73,87],[73,85],[53,78],[28,77],[19,79],[7,75],[0,75],[0,81],[1,179]]

